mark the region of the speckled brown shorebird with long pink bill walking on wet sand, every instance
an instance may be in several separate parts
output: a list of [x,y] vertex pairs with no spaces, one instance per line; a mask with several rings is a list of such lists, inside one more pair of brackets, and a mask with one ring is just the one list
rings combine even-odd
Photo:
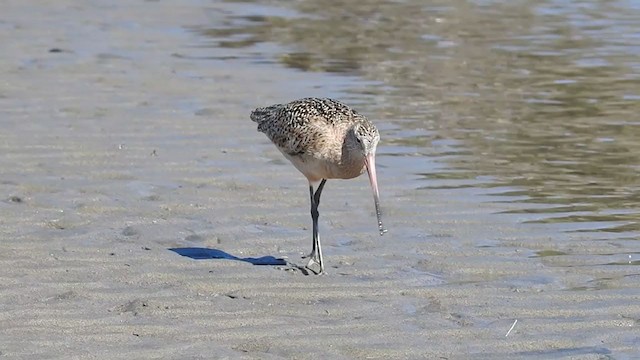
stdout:
[[[378,230],[385,230],[380,214],[378,181],[376,179],[376,147],[378,129],[363,115],[332,99],[305,98],[288,104],[257,108],[251,120],[258,123],[278,150],[309,181],[313,243],[306,268],[324,274],[318,205],[327,179],[352,179],[365,169],[373,190],[378,218]],[[315,271],[314,267],[319,267]]]

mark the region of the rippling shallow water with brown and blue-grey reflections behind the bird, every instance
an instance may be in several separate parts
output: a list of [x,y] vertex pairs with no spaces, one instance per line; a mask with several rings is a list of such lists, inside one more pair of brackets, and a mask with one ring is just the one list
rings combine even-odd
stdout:
[[196,30],[234,57],[340,75],[341,97],[380,124],[380,162],[404,185],[504,203],[500,216],[548,224],[556,241],[619,245],[538,256],[638,265],[640,3],[239,9]]

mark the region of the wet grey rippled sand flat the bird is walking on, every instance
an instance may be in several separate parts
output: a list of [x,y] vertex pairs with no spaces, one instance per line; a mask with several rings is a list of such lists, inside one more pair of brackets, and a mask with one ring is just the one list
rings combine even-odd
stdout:
[[[304,178],[248,114],[335,96],[332,80],[225,60],[184,30],[239,5],[30,3],[6,1],[0,22],[2,357],[638,355],[637,275],[545,263],[557,231],[492,215],[505,204],[417,201],[384,143],[388,234],[365,177],[332,181],[329,275],[252,264],[304,264],[311,236]],[[605,276],[612,290],[575,289]]]

